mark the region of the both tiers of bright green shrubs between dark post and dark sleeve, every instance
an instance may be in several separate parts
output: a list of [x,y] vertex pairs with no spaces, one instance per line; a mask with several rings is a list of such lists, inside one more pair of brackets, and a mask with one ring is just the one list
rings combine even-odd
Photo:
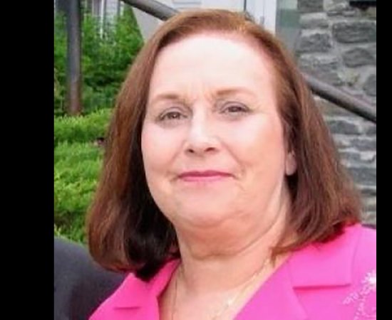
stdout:
[[54,233],[85,242],[84,220],[96,190],[105,137],[112,110],[54,120]]

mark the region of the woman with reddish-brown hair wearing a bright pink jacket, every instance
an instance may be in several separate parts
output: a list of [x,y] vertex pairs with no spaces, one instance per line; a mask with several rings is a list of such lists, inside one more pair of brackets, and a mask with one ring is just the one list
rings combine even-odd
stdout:
[[375,316],[375,235],[359,217],[277,39],[229,11],[178,14],[118,96],[88,236],[130,274],[91,319]]

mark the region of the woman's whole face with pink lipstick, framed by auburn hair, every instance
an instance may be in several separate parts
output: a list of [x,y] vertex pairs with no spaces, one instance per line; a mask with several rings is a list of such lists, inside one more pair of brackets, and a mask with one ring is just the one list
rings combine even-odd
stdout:
[[201,34],[158,55],[142,132],[150,192],[175,226],[274,218],[295,171],[269,59]]

